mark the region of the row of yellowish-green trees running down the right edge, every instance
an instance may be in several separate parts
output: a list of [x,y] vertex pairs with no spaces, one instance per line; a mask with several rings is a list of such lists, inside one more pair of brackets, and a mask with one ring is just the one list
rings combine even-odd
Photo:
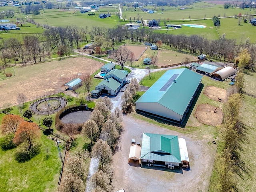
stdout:
[[216,157],[215,170],[217,172],[217,182],[215,190],[219,192],[237,191],[237,179],[242,178],[243,173],[248,174],[248,168],[240,158],[243,151],[243,144],[247,144],[247,128],[241,121],[240,112],[242,110],[242,95],[239,93],[243,88],[244,67],[250,61],[250,54],[243,50],[236,63],[239,71],[236,76],[236,85],[228,88],[227,100],[223,106],[223,121],[218,127],[220,134],[220,146],[223,150]]

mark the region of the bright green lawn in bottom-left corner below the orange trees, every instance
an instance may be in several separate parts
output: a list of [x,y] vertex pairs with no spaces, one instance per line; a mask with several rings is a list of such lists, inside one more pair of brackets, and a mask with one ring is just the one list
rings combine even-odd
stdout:
[[[7,151],[0,148],[0,191],[58,191],[61,160],[56,142],[42,134],[39,144],[42,145],[40,154],[24,163],[18,163],[14,159],[17,148]],[[46,149],[49,152],[48,158]]]

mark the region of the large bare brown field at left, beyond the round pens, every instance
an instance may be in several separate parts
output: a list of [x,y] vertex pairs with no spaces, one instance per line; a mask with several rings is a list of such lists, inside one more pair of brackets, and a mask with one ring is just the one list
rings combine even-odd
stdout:
[[78,73],[92,73],[103,63],[88,58],[69,58],[16,68],[15,77],[0,81],[0,106],[18,102],[18,93],[32,99],[64,90],[68,79]]

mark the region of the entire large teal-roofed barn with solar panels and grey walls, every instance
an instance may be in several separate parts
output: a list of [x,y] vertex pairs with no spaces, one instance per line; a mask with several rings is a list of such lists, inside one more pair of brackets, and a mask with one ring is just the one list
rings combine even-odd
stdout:
[[166,71],[136,102],[136,112],[182,124],[202,75],[187,68]]

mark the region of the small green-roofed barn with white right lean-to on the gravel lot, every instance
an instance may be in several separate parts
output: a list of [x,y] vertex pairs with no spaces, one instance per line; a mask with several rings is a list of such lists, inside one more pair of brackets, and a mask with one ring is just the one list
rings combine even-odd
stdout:
[[[186,147],[183,147],[184,142],[182,139],[182,150],[180,150],[180,144],[178,136],[174,135],[162,135],[162,134],[152,134],[152,133],[143,133],[140,159],[142,164],[148,164],[148,166],[166,166],[167,168],[174,169],[175,167],[180,167],[183,164],[184,159],[184,150],[187,150]],[[182,156],[181,156],[182,152]],[[188,154],[188,152],[186,152]],[[188,160],[189,161],[189,160]]]

